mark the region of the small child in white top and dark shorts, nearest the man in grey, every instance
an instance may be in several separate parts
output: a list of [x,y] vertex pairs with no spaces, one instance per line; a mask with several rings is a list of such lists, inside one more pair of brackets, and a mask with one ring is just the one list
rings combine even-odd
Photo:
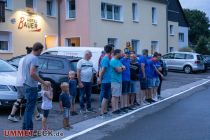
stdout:
[[53,99],[53,93],[51,88],[51,83],[47,81],[47,83],[50,85],[49,87],[46,87],[45,85],[42,85],[42,110],[43,110],[43,118],[42,118],[42,129],[47,130],[47,118],[49,115],[50,109],[52,109],[52,99]]

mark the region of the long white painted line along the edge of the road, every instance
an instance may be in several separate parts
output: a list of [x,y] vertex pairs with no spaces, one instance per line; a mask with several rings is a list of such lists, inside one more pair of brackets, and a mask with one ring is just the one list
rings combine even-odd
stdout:
[[138,111],[140,111],[140,110],[143,110],[143,109],[148,108],[148,107],[150,107],[150,106],[153,106],[153,105],[162,103],[162,102],[164,102],[164,101],[166,101],[166,100],[169,100],[169,99],[171,99],[171,98],[173,98],[173,97],[176,97],[176,96],[179,96],[179,95],[181,95],[181,94],[184,94],[185,92],[188,92],[188,91],[190,91],[190,90],[193,90],[193,89],[195,89],[195,88],[197,88],[197,87],[199,87],[199,86],[205,85],[205,84],[207,84],[208,82],[210,82],[210,80],[207,80],[207,81],[205,81],[205,82],[203,82],[203,83],[201,83],[201,84],[199,84],[199,85],[193,86],[193,87],[191,87],[191,88],[189,88],[189,89],[187,89],[187,90],[185,90],[185,91],[182,91],[182,92],[180,92],[180,93],[178,93],[178,94],[172,95],[172,96],[170,96],[170,97],[168,97],[168,98],[165,98],[165,99],[163,99],[163,100],[161,100],[161,101],[158,101],[158,102],[156,102],[156,103],[153,103],[153,104],[144,106],[144,107],[142,107],[142,108],[136,109],[136,110],[134,110],[134,111],[132,111],[132,112],[129,112],[129,113],[127,113],[127,114],[124,114],[124,115],[121,115],[121,116],[119,116],[119,117],[113,118],[113,119],[111,119],[111,120],[105,121],[105,122],[103,122],[103,123],[97,124],[97,125],[95,125],[95,126],[93,126],[93,127],[90,127],[90,128],[88,128],[88,129],[85,129],[85,130],[83,130],[83,131],[81,131],[81,132],[78,132],[78,133],[75,133],[75,134],[70,135],[70,136],[68,136],[68,137],[65,137],[65,138],[63,138],[62,140],[70,140],[70,139],[73,139],[73,138],[75,138],[75,137],[78,137],[78,136],[80,136],[80,135],[83,135],[83,134],[85,134],[85,133],[88,133],[88,132],[90,132],[90,131],[92,131],[92,130],[94,130],[94,129],[96,129],[96,128],[99,128],[99,127],[101,127],[101,126],[104,126],[104,125],[106,125],[106,124],[108,124],[108,123],[111,123],[111,122],[117,121],[117,120],[119,120],[119,119],[125,118],[125,117],[127,117],[127,116],[129,116],[129,115],[132,115],[132,114],[134,114],[134,113],[136,113],[136,112],[138,112]]

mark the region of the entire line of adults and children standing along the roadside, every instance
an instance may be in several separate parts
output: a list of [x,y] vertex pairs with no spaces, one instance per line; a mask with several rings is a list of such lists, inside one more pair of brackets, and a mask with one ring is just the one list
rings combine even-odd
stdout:
[[[35,112],[37,120],[42,119],[42,128],[47,129],[47,118],[52,109],[53,87],[50,81],[44,81],[38,75],[38,56],[43,50],[41,43],[35,43],[28,51],[28,55],[19,62],[17,89],[18,99],[14,103],[8,119],[17,121],[15,112],[20,108],[22,101],[26,99],[23,130],[33,130],[32,116]],[[98,84],[100,84],[101,115],[108,113],[108,105],[111,103],[112,113],[127,113],[134,110],[135,106],[151,104],[161,98],[160,88],[163,79],[161,54],[155,53],[148,57],[148,50],[143,50],[141,56],[134,51],[125,49],[113,49],[113,45],[104,47],[105,54],[99,60]],[[91,51],[85,51],[84,58],[78,61],[77,71],[69,71],[69,81],[60,85],[61,94],[59,104],[63,113],[63,127],[70,129],[69,115],[77,115],[75,99],[79,88],[80,113],[93,111],[91,106],[91,90],[93,76],[96,72],[91,62]],[[77,77],[77,80],[76,80]],[[42,87],[41,115],[36,106],[38,96],[38,82]],[[157,96],[158,93],[158,96]],[[84,104],[84,96],[86,103]]]

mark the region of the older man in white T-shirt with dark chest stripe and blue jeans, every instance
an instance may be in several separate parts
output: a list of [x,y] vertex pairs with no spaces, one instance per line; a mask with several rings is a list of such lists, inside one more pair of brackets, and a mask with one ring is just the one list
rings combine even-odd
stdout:
[[90,61],[92,57],[92,52],[85,51],[84,58],[77,63],[77,77],[78,84],[80,88],[80,108],[81,113],[85,111],[84,105],[84,94],[86,94],[87,99],[87,111],[92,111],[91,108],[91,91],[92,91],[92,81],[93,81],[93,63]]

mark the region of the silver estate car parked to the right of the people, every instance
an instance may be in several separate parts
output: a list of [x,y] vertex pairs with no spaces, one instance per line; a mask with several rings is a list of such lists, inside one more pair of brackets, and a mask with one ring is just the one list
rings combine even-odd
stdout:
[[162,57],[169,70],[183,70],[185,73],[204,71],[204,61],[200,54],[192,52],[172,52]]

